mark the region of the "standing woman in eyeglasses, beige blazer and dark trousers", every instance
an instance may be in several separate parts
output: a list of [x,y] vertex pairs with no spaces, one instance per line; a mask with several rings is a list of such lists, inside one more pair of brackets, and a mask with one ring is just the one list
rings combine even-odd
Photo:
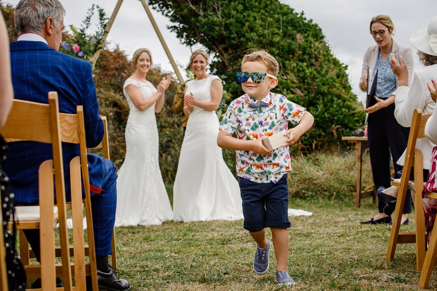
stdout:
[[[366,92],[368,89],[368,73],[373,78],[376,71],[375,98],[371,100],[370,106],[364,109],[364,111],[368,113],[367,130],[370,163],[373,181],[377,189],[380,187],[390,187],[390,154],[392,155],[396,173],[395,178],[399,178],[397,172],[402,170],[402,166],[396,164],[396,161],[398,161],[406,149],[409,134],[409,127],[403,127],[395,119],[394,102],[398,91],[399,79],[392,71],[388,57],[391,53],[394,54],[397,60],[401,56],[403,57],[409,71],[409,82],[411,82],[411,76],[413,75],[413,52],[410,48],[396,43],[392,38],[394,29],[393,22],[387,15],[378,15],[372,18],[370,34],[376,45],[369,47],[364,54],[359,84],[361,91]],[[402,223],[407,221],[408,213],[411,213],[411,195],[406,196]],[[378,195],[378,214],[370,220],[361,223],[390,223],[392,218],[383,212],[385,204],[385,201]]]

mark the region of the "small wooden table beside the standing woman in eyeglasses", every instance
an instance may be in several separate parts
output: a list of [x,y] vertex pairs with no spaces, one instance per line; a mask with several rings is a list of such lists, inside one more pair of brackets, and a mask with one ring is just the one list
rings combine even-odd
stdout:
[[375,184],[369,185],[361,191],[361,164],[362,164],[362,154],[363,148],[367,147],[367,137],[341,137],[341,140],[347,140],[351,143],[355,143],[355,148],[357,149],[357,191],[354,193],[355,196],[355,206],[358,208],[361,204],[361,198],[366,198],[372,196],[373,203],[376,203],[376,189]]

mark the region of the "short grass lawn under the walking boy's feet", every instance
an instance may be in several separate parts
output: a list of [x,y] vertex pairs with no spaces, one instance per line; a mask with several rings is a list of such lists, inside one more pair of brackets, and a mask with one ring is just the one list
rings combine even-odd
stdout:
[[[293,290],[420,290],[415,245],[398,245],[385,261],[390,226],[360,225],[376,213],[348,201],[291,199],[313,212],[291,218],[288,270]],[[414,231],[414,218],[401,231]],[[163,223],[117,228],[119,277],[134,290],[284,290],[274,284],[275,254],[265,275],[252,270],[255,243],[243,221]],[[271,239],[270,230],[268,237]],[[430,290],[437,286],[433,273]],[[289,288],[291,289],[291,288]]]

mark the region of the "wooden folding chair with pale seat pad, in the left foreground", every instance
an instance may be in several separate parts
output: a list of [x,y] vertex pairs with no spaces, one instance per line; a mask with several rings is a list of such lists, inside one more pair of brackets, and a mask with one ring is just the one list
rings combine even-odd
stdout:
[[[6,125],[0,131],[7,141],[32,140],[52,144],[53,160],[44,161],[38,171],[39,205],[15,207],[17,229],[40,230],[41,265],[25,264],[24,267],[28,278],[42,278],[40,290],[44,291],[55,290],[56,270],[64,278],[61,290],[73,290],[59,127],[58,94],[49,92],[49,104],[14,100]],[[57,207],[54,206],[53,182]],[[55,264],[56,221],[59,222],[62,265]],[[11,227],[12,222],[8,226]]]

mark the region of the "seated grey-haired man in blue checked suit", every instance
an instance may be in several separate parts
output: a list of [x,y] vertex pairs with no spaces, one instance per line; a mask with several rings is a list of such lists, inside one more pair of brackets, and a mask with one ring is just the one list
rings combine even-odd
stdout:
[[[15,10],[20,37],[10,43],[15,99],[48,103],[48,92],[57,91],[59,111],[76,113],[83,105],[87,147],[97,146],[104,134],[90,62],[58,51],[65,10],[58,0],[21,0]],[[62,143],[65,185],[69,200],[69,162],[79,155],[79,145]],[[29,141],[9,144],[5,171],[19,204],[38,202],[38,167],[52,157],[51,145]],[[118,279],[108,264],[117,205],[117,172],[114,164],[96,154],[88,155],[99,289],[127,291],[132,287]],[[39,231],[26,231],[39,260]],[[88,283],[88,281],[87,281]],[[40,281],[32,284],[38,288]],[[40,287],[39,287],[40,288]]]

